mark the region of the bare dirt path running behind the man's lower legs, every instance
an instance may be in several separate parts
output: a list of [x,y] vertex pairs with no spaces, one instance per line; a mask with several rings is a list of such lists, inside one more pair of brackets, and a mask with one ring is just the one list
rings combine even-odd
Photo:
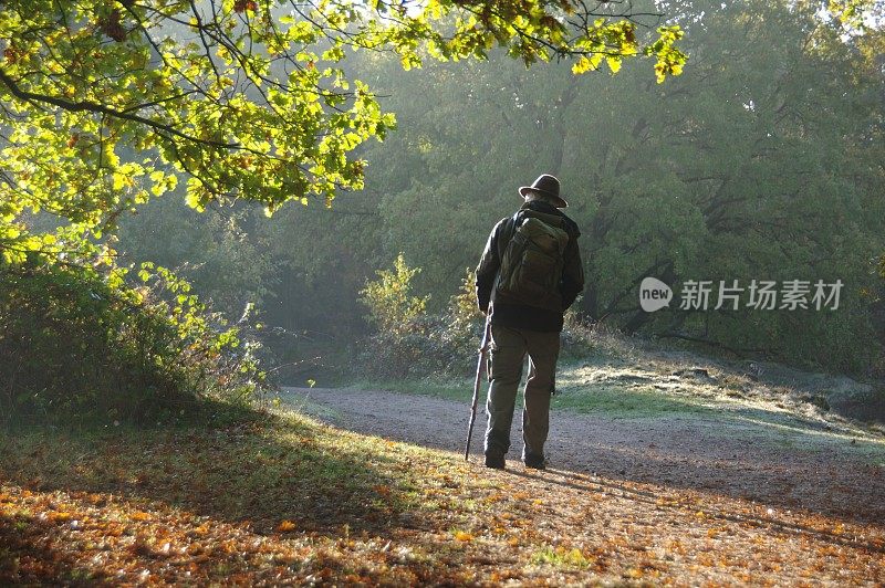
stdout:
[[[424,447],[464,451],[469,407],[383,391],[287,388],[283,399],[331,424]],[[516,419],[517,421],[519,419]],[[485,413],[472,453],[481,455]],[[858,523],[885,522],[883,441],[796,423],[698,416],[551,417],[552,470],[606,480],[701,491],[773,511],[803,510]],[[513,428],[508,468],[522,471],[521,430]]]

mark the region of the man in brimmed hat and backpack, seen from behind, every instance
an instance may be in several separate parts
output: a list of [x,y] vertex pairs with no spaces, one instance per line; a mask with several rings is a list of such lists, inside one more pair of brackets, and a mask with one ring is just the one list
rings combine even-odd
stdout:
[[543,470],[563,313],[584,287],[581,232],[559,210],[569,203],[553,176],[540,176],[519,193],[524,203],[494,225],[477,266],[477,303],[483,314],[491,312],[486,466],[504,468],[528,354],[522,461]]

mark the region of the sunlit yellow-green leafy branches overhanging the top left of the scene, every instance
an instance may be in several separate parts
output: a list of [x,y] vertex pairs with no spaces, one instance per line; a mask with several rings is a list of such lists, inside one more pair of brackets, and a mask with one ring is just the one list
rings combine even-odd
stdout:
[[394,117],[347,78],[346,48],[394,51],[406,69],[496,45],[525,63],[576,55],[575,71],[646,54],[659,80],[678,74],[679,30],[643,42],[636,27],[570,0],[3,2],[0,243],[8,259],[46,244],[23,238],[24,210],[101,232],[179,176],[197,209],[244,198],[270,213],[361,188],[354,149]]

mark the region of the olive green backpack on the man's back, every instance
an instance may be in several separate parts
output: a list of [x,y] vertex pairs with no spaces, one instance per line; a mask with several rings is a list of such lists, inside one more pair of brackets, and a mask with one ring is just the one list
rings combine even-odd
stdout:
[[561,312],[560,281],[569,244],[564,219],[521,210],[513,217],[512,227],[501,255],[494,302]]

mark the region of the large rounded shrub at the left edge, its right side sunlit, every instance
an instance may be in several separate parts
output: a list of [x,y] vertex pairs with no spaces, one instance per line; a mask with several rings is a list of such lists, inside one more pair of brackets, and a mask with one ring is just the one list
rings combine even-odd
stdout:
[[0,261],[0,414],[154,422],[266,387],[256,345],[187,282],[146,263],[136,286],[81,245]]

